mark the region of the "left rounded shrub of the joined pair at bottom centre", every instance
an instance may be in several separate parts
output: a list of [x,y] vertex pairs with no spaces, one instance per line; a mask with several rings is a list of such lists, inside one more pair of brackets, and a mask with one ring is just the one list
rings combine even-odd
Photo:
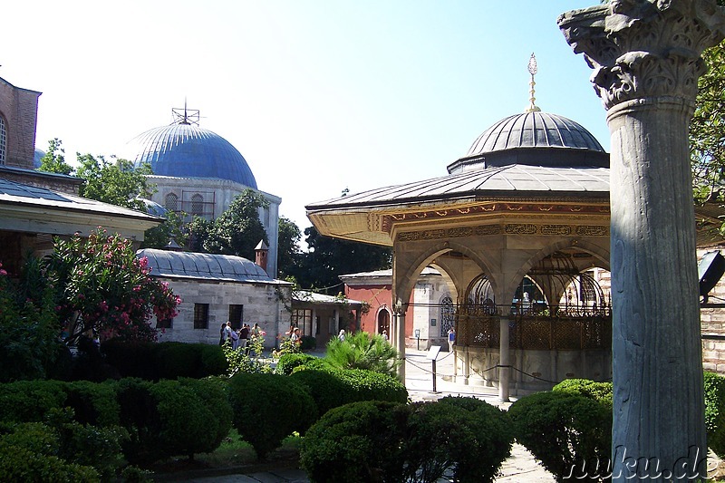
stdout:
[[404,481],[405,405],[361,401],[328,411],[307,431],[300,464],[312,481]]

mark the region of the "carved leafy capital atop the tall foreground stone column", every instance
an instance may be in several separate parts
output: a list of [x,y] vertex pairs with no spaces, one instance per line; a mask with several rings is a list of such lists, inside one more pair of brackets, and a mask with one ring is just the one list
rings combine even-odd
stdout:
[[701,53],[725,37],[725,12],[714,0],[612,0],[557,22],[594,69],[606,110],[651,97],[694,100]]

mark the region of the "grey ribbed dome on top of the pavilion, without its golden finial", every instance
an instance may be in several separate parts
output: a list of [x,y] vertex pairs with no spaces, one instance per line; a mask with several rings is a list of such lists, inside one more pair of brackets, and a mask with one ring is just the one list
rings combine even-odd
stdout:
[[483,131],[449,173],[491,166],[609,167],[609,154],[578,122],[542,111],[508,116]]

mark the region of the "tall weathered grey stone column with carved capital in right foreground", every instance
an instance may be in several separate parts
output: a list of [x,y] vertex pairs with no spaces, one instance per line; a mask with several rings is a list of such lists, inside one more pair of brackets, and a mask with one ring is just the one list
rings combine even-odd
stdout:
[[687,130],[724,20],[710,0],[613,0],[558,20],[612,134],[613,481],[706,477]]

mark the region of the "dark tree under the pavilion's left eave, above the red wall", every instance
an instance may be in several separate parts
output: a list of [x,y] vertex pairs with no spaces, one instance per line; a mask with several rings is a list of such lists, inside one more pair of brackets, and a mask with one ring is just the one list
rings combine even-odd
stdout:
[[302,257],[299,284],[340,292],[340,275],[383,270],[391,267],[392,250],[387,246],[324,237],[315,227],[304,229],[310,251]]

